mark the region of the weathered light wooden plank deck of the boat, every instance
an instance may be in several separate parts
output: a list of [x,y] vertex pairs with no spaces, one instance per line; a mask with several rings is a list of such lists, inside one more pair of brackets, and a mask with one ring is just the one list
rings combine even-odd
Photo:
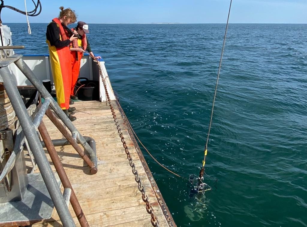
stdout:
[[[120,108],[115,102],[112,104],[128,150],[154,208],[154,214],[159,220],[159,226],[176,227],[134,137],[130,137],[130,128],[126,126]],[[98,101],[80,101],[72,106],[76,107],[74,116],[77,117],[73,124],[82,135],[95,139],[98,172],[91,175],[88,166],[72,146],[58,146],[56,150],[89,225],[152,226],[151,216],[147,213],[146,203],[143,202],[142,194],[138,190],[138,183],[134,179],[109,105]],[[46,116],[44,123],[52,139],[63,138]],[[47,157],[51,160],[48,153]],[[30,160],[26,161],[29,163]],[[51,161],[50,164],[54,170]],[[69,210],[76,225],[80,226],[71,205]],[[44,221],[33,226],[61,226],[61,222],[54,209],[48,224]]]

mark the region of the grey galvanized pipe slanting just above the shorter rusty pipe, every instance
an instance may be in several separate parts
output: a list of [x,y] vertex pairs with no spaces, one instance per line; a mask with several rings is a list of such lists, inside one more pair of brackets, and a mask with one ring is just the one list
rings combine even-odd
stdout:
[[72,124],[72,122],[68,119],[68,117],[62,111],[62,109],[59,107],[56,101],[52,98],[52,96],[49,94],[49,92],[44,87],[44,85],[41,83],[41,81],[37,79],[37,77],[32,72],[32,70],[29,68],[29,66],[27,66],[21,58],[14,61],[14,63],[21,70],[21,72],[23,72],[26,78],[28,78],[28,80],[33,84],[33,86],[38,90],[38,92],[41,94],[42,97],[44,98],[48,97],[51,99],[50,107],[52,108],[52,110],[60,117],[60,119],[63,121],[63,123],[72,133],[76,133],[77,135],[76,138],[80,142],[81,146],[84,147],[84,149],[87,151],[88,154],[90,154],[91,157],[94,157],[95,154],[94,154],[93,149],[91,149],[91,147],[85,141],[85,139],[80,134],[80,132],[76,129],[76,127]]

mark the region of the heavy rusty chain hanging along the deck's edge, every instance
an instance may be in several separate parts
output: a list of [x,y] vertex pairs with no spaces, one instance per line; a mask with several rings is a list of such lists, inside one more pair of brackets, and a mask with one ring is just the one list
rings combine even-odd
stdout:
[[117,118],[116,118],[116,114],[115,114],[115,111],[114,111],[114,108],[113,108],[113,105],[111,103],[111,100],[110,100],[110,96],[109,96],[109,93],[107,91],[107,83],[106,83],[106,78],[103,78],[103,71],[102,71],[102,68],[101,68],[101,65],[99,63],[99,61],[97,61],[97,65],[99,67],[99,73],[101,75],[101,78],[102,78],[102,82],[103,82],[103,86],[104,86],[104,90],[106,92],[106,96],[107,96],[107,101],[110,105],[110,109],[111,109],[111,112],[112,112],[112,115],[113,115],[113,119],[114,119],[114,122],[115,122],[115,125],[116,125],[116,128],[117,128],[117,131],[119,133],[119,137],[121,138],[121,141],[122,141],[122,145],[123,147],[125,148],[125,152],[126,152],[126,155],[127,155],[127,159],[129,160],[129,164],[132,168],[132,173],[134,174],[134,179],[135,179],[135,182],[138,183],[138,190],[142,193],[142,200],[146,203],[146,211],[148,214],[150,214],[151,216],[151,224],[154,226],[154,227],[159,227],[159,220],[158,218],[156,217],[156,215],[153,213],[153,207],[150,205],[150,202],[149,202],[149,198],[148,196],[146,195],[146,192],[145,192],[145,189],[142,185],[142,182],[141,182],[141,179],[140,177],[138,176],[138,170],[136,170],[136,167],[134,165],[134,162],[132,160],[132,157],[130,155],[130,152],[128,151],[128,146],[126,145],[126,142],[125,142],[125,138],[122,134],[122,131],[119,127],[119,123],[117,121]]

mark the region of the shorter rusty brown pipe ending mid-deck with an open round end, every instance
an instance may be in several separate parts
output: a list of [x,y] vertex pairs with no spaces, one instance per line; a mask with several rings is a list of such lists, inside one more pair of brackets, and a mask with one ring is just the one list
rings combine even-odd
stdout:
[[[60,130],[60,132],[64,135],[64,137],[69,141],[69,143],[76,149],[78,154],[83,158],[86,164],[90,167],[91,174],[97,173],[97,166],[89,159],[89,157],[84,153],[84,151],[78,146],[76,140],[72,138],[72,136],[68,133],[68,131],[64,128],[64,126],[60,123],[60,121],[56,118],[56,116],[52,113],[50,109],[46,111],[46,115],[52,121],[52,123]],[[46,144],[46,143],[45,143]]]

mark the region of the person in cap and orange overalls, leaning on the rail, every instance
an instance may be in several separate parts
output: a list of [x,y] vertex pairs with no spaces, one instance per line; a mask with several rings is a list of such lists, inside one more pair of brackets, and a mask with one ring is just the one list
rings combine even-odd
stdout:
[[80,38],[73,40],[70,46],[71,60],[72,60],[72,87],[71,87],[71,95],[70,98],[72,100],[77,100],[78,97],[74,94],[75,84],[79,77],[80,72],[80,63],[81,58],[83,56],[84,51],[87,51],[92,58],[100,59],[100,56],[95,57],[91,50],[91,46],[88,43],[86,33],[88,31],[87,23],[83,21],[78,21],[77,27],[72,28],[72,31],[76,31],[77,34],[80,35]]

